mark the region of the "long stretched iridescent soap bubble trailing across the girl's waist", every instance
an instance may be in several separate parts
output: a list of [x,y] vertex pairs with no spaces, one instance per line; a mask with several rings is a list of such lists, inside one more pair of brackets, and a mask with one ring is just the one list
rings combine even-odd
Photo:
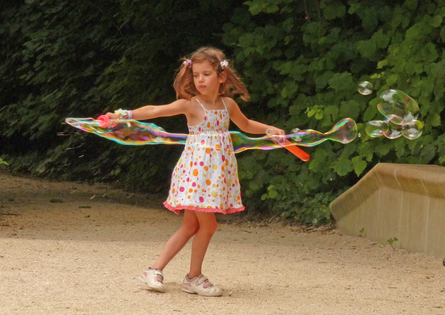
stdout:
[[[141,123],[133,119],[111,119],[108,126],[93,118],[67,118],[65,122],[83,131],[127,145],[185,144],[187,138],[194,136],[169,133],[153,123]],[[271,150],[292,145],[313,147],[326,140],[345,144],[356,138],[357,125],[354,120],[347,118],[336,123],[325,133],[308,129],[290,135],[268,135],[259,138],[250,138],[238,131],[230,131],[230,135],[234,152],[238,153],[250,149]],[[205,146],[205,143],[202,145]]]

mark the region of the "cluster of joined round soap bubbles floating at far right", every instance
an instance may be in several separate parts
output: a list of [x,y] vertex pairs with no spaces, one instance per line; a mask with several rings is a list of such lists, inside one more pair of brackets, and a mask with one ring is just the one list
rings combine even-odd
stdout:
[[399,90],[386,90],[379,97],[377,108],[385,120],[372,120],[365,126],[370,137],[384,135],[388,139],[404,136],[417,139],[422,135],[423,124],[417,120],[419,106],[406,93]]

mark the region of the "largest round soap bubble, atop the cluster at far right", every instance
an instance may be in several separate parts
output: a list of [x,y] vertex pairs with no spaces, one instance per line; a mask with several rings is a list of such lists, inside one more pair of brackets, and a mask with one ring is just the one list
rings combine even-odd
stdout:
[[419,106],[413,98],[399,90],[386,90],[379,97],[377,108],[392,123],[405,125],[417,119]]

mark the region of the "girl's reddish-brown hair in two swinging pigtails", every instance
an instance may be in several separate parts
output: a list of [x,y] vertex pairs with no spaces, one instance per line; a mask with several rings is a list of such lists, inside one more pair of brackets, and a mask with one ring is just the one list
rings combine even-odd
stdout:
[[221,65],[221,61],[224,60],[226,60],[226,56],[223,51],[213,47],[202,47],[198,49],[191,54],[190,60],[182,58],[181,61],[191,62],[182,63],[181,68],[179,68],[179,72],[174,79],[173,85],[174,90],[176,90],[176,98],[190,100],[190,98],[198,94],[198,90],[193,81],[192,65],[194,62],[209,61],[216,70],[218,77],[221,78],[223,77],[223,72],[226,73],[226,81],[219,86],[218,95],[233,97],[235,94],[241,93],[243,94],[241,98],[247,101],[250,97],[246,87],[239,80],[235,70],[231,67],[229,60],[227,60],[229,62],[228,65]]

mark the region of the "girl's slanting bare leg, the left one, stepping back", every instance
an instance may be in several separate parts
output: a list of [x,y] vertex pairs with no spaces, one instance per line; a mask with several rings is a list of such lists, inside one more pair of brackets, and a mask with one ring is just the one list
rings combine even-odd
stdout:
[[151,267],[160,270],[164,269],[168,262],[186,245],[190,237],[196,234],[198,229],[199,221],[194,211],[184,210],[184,219],[181,227],[166,242],[164,249]]

